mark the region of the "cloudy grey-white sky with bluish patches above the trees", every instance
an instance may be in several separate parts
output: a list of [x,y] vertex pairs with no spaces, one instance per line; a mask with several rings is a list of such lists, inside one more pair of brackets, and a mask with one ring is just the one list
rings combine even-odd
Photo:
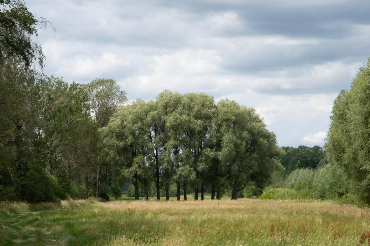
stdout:
[[369,0],[26,0],[51,26],[44,73],[110,78],[129,100],[204,92],[255,108],[280,146],[320,145],[370,57]]

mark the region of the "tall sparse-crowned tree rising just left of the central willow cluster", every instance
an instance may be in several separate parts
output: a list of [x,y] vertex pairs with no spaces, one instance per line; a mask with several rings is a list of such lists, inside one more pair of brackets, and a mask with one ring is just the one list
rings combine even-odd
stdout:
[[[108,124],[110,117],[119,105],[127,102],[126,93],[121,91],[120,86],[113,79],[95,79],[87,85],[90,101],[91,116],[98,128]],[[102,159],[98,151],[96,196],[100,196],[101,164]],[[107,166],[105,166],[108,168]],[[107,170],[105,170],[107,171]]]

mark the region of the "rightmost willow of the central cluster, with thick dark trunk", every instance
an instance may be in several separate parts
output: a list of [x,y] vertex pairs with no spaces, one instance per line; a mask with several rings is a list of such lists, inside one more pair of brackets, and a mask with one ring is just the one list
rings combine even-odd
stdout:
[[[231,199],[253,181],[256,175],[269,178],[266,173],[280,157],[275,134],[266,129],[265,123],[252,108],[240,106],[235,101],[221,100],[216,119],[221,149],[218,156],[223,175],[232,190]],[[273,170],[273,168],[270,168]]]

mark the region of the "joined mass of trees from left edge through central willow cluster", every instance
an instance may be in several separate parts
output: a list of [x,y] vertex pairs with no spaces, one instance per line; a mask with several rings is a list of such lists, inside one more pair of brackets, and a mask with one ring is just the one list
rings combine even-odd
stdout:
[[205,186],[212,199],[226,187],[236,199],[248,182],[262,187],[282,151],[252,108],[215,102],[203,93],[164,91],[155,100],[127,104],[112,79],[66,83],[43,67],[31,40],[47,23],[23,1],[1,0],[0,199],[28,202],[121,194],[131,181],[148,199],[169,185]]

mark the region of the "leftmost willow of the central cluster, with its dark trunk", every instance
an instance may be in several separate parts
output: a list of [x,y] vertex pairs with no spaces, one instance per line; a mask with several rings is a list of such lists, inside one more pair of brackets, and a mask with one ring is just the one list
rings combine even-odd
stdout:
[[[101,132],[105,155],[109,163],[120,165],[122,176],[132,181],[135,200],[139,199],[139,182],[148,178],[150,143],[147,141],[148,128],[145,124],[145,102],[137,100],[121,106],[111,116]],[[144,186],[147,184],[144,181]],[[147,193],[147,191],[146,191]]]

